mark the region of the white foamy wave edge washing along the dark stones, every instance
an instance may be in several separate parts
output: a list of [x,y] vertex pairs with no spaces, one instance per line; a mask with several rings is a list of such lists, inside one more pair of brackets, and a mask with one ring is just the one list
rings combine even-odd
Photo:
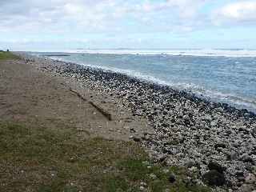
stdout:
[[[62,58],[50,58],[45,57],[45,55],[37,56],[46,59],[52,59],[53,61],[59,62],[67,62],[62,60]],[[168,86],[172,90],[176,90],[178,92],[185,92],[186,94],[190,94],[193,97],[201,98],[206,102],[213,102],[213,103],[223,103],[224,105],[228,105],[230,108],[235,108],[238,110],[248,110],[248,112],[252,112],[256,114],[256,103],[254,102],[253,97],[247,97],[245,94],[231,94],[229,92],[223,92],[220,90],[211,90],[206,89],[194,83],[172,83],[168,82],[163,79],[159,79],[154,77],[154,75],[145,75],[141,74],[136,70],[122,70],[115,67],[107,67],[107,66],[93,66],[90,64],[83,65],[82,62],[70,62],[74,63],[74,65],[82,65],[85,67],[92,68],[92,70],[102,70],[106,73],[117,73],[127,76],[128,78],[134,78],[139,82],[146,82],[150,84],[156,84],[159,86]]]

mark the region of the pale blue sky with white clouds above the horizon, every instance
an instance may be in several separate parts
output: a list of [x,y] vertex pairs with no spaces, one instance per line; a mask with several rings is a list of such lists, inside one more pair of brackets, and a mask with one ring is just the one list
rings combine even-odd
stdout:
[[0,48],[256,49],[256,0],[1,0]]

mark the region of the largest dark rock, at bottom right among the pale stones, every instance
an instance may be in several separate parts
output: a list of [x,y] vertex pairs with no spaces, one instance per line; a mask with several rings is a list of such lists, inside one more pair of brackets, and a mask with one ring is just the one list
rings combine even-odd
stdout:
[[223,186],[226,183],[224,175],[217,170],[210,170],[202,175],[202,181],[210,186]]

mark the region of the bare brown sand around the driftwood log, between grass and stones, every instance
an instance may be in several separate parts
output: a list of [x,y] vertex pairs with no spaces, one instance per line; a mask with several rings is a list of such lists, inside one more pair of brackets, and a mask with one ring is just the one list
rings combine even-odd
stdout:
[[[117,101],[98,94],[97,90],[81,89],[74,79],[42,72],[40,63],[2,61],[0,69],[0,118],[3,121],[63,129],[72,127],[80,130],[82,137],[91,135],[117,140],[140,137],[147,129],[145,120],[131,117]],[[106,110],[113,120],[98,107]]]

